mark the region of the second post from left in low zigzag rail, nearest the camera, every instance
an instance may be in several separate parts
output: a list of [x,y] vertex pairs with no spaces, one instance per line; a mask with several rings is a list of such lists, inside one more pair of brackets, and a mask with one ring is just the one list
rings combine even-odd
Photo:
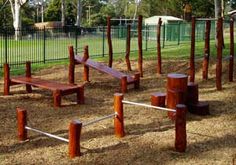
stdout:
[[81,156],[80,152],[80,136],[82,123],[79,120],[72,121],[69,126],[69,156],[74,158]]

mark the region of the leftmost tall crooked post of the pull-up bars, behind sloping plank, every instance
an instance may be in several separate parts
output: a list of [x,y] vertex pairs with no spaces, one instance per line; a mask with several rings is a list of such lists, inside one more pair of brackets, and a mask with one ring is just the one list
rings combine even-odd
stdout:
[[109,50],[109,63],[108,63],[108,66],[112,67],[113,48],[112,48],[112,40],[111,40],[111,17],[107,17],[107,42],[108,42],[108,50]]

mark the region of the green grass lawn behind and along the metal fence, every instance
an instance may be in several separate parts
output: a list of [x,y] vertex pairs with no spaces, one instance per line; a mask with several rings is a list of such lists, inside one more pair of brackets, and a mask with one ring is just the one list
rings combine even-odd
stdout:
[[[46,46],[46,49],[43,49],[43,46]],[[68,63],[68,45],[73,45],[75,47],[75,39],[73,38],[64,38],[64,39],[47,39],[44,43],[43,40],[20,40],[15,41],[9,39],[7,42],[8,49],[8,61],[10,63],[25,63],[25,61],[40,61],[41,64],[33,64],[33,68],[40,69],[45,67],[50,67],[52,65],[57,65],[58,63]],[[89,46],[89,54],[92,59],[99,61],[108,61],[108,46],[107,41],[105,40],[104,44],[101,36],[86,36],[78,38],[78,51],[82,51],[84,45]],[[204,51],[204,42],[195,43],[195,54],[196,57],[202,57]],[[216,47],[215,42],[212,40],[210,48],[210,55],[216,56]],[[0,40],[0,65],[2,66],[5,59],[5,42]],[[147,50],[146,50],[147,46]],[[113,53],[114,59],[124,59],[126,50],[126,40],[125,39],[113,39]],[[131,40],[131,55],[130,58],[136,60],[138,58],[138,41],[137,38],[132,38]],[[44,57],[43,54],[46,56]],[[105,57],[102,57],[102,54],[106,54]],[[168,41],[165,42],[165,47],[162,48],[162,58],[163,59],[187,59],[190,55],[190,41],[181,42],[178,45],[177,41]],[[156,58],[156,41],[149,40],[146,44],[146,41],[143,41],[143,56],[144,59]],[[229,55],[229,38],[225,37],[225,49],[223,51],[224,56]],[[95,56],[97,55],[97,56]],[[52,59],[63,59],[62,62],[52,61]],[[43,63],[44,59],[46,64]],[[50,63],[48,63],[50,61]],[[16,74],[21,74],[24,66],[17,67]]]

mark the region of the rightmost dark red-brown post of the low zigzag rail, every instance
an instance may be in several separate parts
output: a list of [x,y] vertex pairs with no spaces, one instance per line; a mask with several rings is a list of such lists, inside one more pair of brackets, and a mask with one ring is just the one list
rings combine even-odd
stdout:
[[187,107],[184,104],[176,105],[175,149],[178,152],[185,152],[187,146],[186,112]]

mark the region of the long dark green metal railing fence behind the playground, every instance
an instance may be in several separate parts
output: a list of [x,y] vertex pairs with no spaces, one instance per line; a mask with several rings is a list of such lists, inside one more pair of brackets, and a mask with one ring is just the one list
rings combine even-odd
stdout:
[[[156,26],[143,26],[143,50],[156,49]],[[211,38],[215,36],[215,23],[211,26]],[[108,54],[106,27],[80,28],[42,28],[20,30],[20,40],[14,39],[14,29],[0,31],[0,67],[4,63],[19,66],[25,61],[46,63],[68,58],[68,45],[73,45],[77,53],[81,53],[84,45],[89,45],[89,53],[105,57]],[[204,40],[205,24],[198,22],[196,26],[196,41]],[[113,53],[125,55],[126,26],[113,26]],[[164,24],[161,28],[162,47],[189,43],[191,39],[191,24],[185,22]],[[138,50],[137,27],[131,28],[131,51]]]

